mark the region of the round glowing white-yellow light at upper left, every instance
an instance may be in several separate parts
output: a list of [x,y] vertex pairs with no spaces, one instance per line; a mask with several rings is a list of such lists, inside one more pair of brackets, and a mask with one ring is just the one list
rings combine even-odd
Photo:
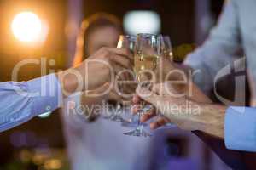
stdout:
[[38,42],[43,33],[43,23],[37,14],[22,12],[15,15],[11,29],[21,42]]

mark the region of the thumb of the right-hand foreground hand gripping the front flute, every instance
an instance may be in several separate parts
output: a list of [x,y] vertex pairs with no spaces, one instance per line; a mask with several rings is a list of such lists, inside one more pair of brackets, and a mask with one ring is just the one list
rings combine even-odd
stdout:
[[136,89],[136,93],[141,99],[147,101],[148,103],[155,105],[157,102],[158,95],[147,88],[142,88],[139,86]]

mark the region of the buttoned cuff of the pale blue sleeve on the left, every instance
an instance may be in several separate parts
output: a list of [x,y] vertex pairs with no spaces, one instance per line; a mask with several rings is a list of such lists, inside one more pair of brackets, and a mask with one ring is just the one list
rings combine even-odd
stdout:
[[28,96],[32,99],[33,114],[54,111],[62,105],[61,84],[54,73],[26,83]]

